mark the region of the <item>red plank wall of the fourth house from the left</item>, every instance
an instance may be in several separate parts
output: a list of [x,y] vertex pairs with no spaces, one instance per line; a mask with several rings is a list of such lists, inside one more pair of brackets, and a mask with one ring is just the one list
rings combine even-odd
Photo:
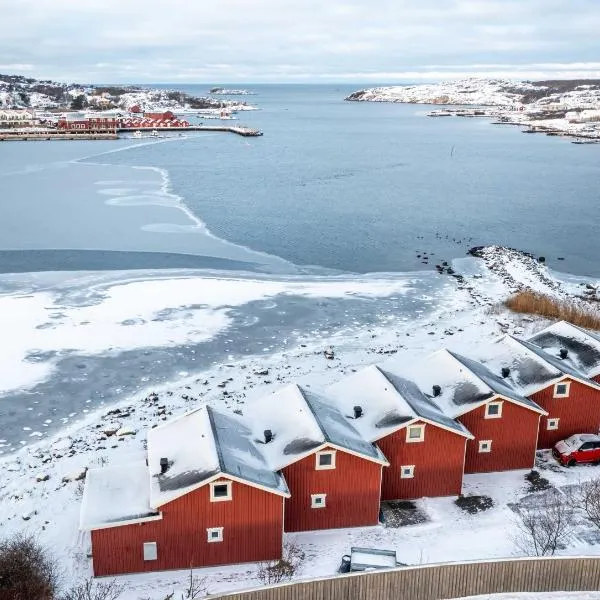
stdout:
[[[531,469],[535,461],[540,415],[508,402],[500,419],[486,419],[480,406],[458,420],[475,436],[467,441],[465,473]],[[492,440],[491,452],[479,452],[480,440]]]

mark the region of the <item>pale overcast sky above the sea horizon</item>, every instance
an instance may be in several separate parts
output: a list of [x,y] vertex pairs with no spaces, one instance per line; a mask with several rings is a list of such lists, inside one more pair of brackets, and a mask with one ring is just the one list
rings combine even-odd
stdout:
[[0,73],[82,82],[600,78],[600,0],[0,0]]

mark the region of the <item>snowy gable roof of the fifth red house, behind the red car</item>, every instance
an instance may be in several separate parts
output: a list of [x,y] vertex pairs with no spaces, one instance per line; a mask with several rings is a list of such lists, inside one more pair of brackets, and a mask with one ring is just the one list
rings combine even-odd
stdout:
[[565,375],[600,389],[598,384],[588,380],[585,373],[570,361],[562,360],[536,344],[509,335],[484,347],[481,362],[498,376],[502,376],[502,369],[508,368],[508,375],[502,380],[526,396],[553,384]]

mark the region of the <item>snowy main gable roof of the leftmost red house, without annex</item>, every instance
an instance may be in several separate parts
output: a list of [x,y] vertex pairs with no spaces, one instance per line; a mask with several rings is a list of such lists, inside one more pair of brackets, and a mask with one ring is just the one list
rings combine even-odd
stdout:
[[[168,469],[161,473],[161,458]],[[148,432],[150,503],[158,507],[229,475],[250,485],[288,495],[285,480],[273,472],[252,441],[250,429],[233,415],[208,406]]]

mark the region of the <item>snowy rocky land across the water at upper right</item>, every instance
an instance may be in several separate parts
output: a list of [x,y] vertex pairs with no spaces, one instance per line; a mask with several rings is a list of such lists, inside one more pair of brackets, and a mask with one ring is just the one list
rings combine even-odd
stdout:
[[431,117],[491,117],[498,124],[522,125],[526,133],[600,141],[600,80],[514,82],[469,78],[427,85],[358,90],[351,102],[397,102],[457,107],[429,113]]

